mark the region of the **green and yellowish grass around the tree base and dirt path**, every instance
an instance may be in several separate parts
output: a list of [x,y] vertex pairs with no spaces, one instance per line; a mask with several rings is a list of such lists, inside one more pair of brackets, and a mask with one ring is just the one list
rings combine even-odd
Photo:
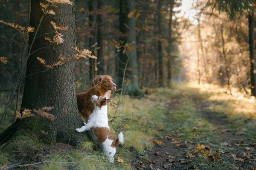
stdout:
[[[95,142],[84,141],[73,151],[61,152],[56,150],[53,153],[42,154],[40,161],[43,164],[37,165],[38,170],[59,170],[59,169],[90,169],[90,170],[129,170],[134,169],[136,164],[135,155],[147,159],[147,150],[153,146],[151,138],[161,140],[159,136],[168,134],[183,134],[177,137],[177,140],[192,141],[195,143],[206,144],[212,154],[216,150],[223,149],[229,151],[229,148],[222,145],[224,140],[221,130],[216,128],[208,116],[217,116],[227,119],[225,124],[227,128],[232,128],[237,132],[252,132],[255,129],[254,113],[256,109],[255,102],[250,96],[235,94],[230,96],[224,93],[224,89],[197,85],[177,85],[172,89],[157,88],[148,90],[151,94],[145,98],[137,99],[130,96],[115,95],[111,97],[111,103],[108,105],[109,126],[114,136],[120,131],[124,134],[125,144],[117,147],[116,156],[119,156],[124,163],[115,162],[111,164],[108,158],[102,154],[99,146]],[[199,103],[206,104],[206,110],[199,107]],[[248,104],[249,103],[249,104]],[[253,138],[252,134],[250,138]],[[248,136],[241,136],[247,140]],[[19,141],[23,141],[23,145]],[[35,153],[43,152],[44,142],[36,136],[21,136],[14,142],[1,147],[0,166],[5,161],[8,164],[14,163],[12,152],[16,150],[19,153],[25,153],[32,150]],[[187,148],[177,156],[184,156],[193,153],[195,147]],[[8,149],[9,148],[9,149]],[[30,152],[31,153],[31,152]],[[230,156],[228,153],[218,153],[221,157]],[[198,169],[204,170],[231,170],[234,165],[227,159],[224,164],[221,161],[209,161],[202,153],[196,153],[195,159],[190,165],[201,164]],[[189,166],[190,166],[189,165]]]

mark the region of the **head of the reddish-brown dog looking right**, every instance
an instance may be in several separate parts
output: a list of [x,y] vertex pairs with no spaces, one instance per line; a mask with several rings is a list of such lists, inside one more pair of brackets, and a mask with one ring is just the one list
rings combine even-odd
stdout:
[[108,75],[99,75],[95,79],[93,79],[94,88],[100,87],[105,90],[115,90],[116,84],[113,83],[112,77]]

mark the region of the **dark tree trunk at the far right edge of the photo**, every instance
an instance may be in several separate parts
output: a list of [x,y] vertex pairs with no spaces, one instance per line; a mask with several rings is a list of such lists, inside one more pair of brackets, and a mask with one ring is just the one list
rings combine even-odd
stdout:
[[250,81],[251,95],[256,96],[255,56],[254,56],[254,10],[249,13],[249,45],[250,45]]

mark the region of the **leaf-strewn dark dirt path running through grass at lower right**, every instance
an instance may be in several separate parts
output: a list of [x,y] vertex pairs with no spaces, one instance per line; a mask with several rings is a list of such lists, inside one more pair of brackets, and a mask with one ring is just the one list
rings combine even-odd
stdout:
[[[183,94],[180,94],[172,98],[172,102],[168,103],[170,110],[178,109],[182,105],[182,97]],[[227,116],[209,110],[209,101],[198,96],[198,91],[195,90],[191,98],[193,103],[190,104],[198,111],[191,116],[199,115],[202,117],[201,121],[195,127],[186,126],[188,131],[194,130],[190,130],[191,133],[184,134],[186,129],[181,132],[179,128],[160,132],[156,140],[164,145],[155,144],[148,151],[148,164],[144,161],[146,169],[256,170],[256,143],[250,133],[239,132],[236,123],[227,120]],[[172,111],[166,114],[174,114],[175,117]],[[208,130],[208,125],[200,125],[205,122],[209,122]],[[182,123],[186,124],[176,121],[172,122],[172,126],[182,127]]]

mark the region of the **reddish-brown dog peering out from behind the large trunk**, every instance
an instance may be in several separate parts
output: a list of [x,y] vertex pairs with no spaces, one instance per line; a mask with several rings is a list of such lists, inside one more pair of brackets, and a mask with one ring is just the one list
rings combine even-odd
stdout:
[[78,110],[85,123],[95,108],[95,105],[92,103],[92,96],[102,96],[109,99],[111,96],[111,90],[116,89],[116,84],[113,83],[112,77],[108,75],[97,76],[93,79],[93,83],[93,88],[90,88],[86,92],[76,94]]

